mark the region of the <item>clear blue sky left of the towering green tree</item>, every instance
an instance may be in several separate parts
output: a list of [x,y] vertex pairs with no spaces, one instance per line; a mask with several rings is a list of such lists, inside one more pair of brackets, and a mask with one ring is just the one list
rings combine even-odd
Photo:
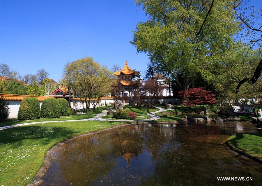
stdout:
[[[62,77],[67,61],[92,56],[109,68],[146,70],[148,58],[129,42],[147,19],[134,1],[0,1],[1,63],[20,74],[44,68]],[[138,11],[140,10],[140,11]]]

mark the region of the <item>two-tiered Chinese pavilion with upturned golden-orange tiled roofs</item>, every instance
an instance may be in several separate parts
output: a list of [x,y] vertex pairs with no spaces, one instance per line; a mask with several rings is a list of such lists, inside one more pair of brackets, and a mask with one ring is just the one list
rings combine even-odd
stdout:
[[132,85],[134,84],[133,79],[139,75],[139,72],[136,69],[132,70],[128,67],[127,61],[125,62],[125,67],[120,69],[114,74],[120,79],[120,83],[123,85],[124,91],[121,92],[121,95],[124,96],[133,96],[133,88]]

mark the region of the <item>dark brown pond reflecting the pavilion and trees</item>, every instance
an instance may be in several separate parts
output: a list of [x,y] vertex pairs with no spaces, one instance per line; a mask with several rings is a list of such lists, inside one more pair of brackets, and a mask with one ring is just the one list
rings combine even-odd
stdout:
[[222,146],[239,132],[256,128],[247,122],[147,124],[79,137],[53,152],[39,185],[260,185],[261,171]]

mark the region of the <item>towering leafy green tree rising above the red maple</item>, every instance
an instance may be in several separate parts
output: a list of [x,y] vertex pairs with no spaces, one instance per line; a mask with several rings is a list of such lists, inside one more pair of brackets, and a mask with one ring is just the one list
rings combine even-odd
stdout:
[[232,2],[137,0],[148,20],[137,25],[131,44],[187,90],[206,64],[234,44],[239,23],[230,8]]

